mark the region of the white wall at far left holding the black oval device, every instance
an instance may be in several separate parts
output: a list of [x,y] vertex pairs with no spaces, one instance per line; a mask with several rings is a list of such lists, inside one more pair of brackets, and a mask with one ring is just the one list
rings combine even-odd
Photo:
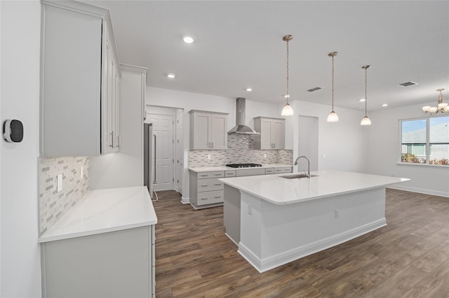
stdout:
[[41,297],[38,231],[41,3],[0,1],[1,123],[21,120],[22,143],[1,138],[1,297]]

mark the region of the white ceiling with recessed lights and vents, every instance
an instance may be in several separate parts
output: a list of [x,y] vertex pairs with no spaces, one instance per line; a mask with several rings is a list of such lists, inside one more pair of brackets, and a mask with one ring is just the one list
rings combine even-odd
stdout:
[[366,64],[369,110],[449,100],[449,1],[84,2],[109,8],[120,62],[152,87],[281,104],[292,34],[290,100],[330,104],[332,51],[335,106],[364,108]]

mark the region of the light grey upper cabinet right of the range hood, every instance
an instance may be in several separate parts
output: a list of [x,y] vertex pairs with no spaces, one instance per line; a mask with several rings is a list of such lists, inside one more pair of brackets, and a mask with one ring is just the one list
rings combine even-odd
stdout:
[[254,136],[254,148],[279,150],[285,148],[286,122],[281,118],[254,118],[254,129],[260,135]]

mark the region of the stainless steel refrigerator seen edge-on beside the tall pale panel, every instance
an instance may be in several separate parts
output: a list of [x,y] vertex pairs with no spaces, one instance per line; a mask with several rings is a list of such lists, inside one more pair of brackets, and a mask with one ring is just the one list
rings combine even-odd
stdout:
[[153,134],[153,124],[143,125],[143,185],[148,187],[149,197],[153,199],[153,183],[156,182],[156,136]]

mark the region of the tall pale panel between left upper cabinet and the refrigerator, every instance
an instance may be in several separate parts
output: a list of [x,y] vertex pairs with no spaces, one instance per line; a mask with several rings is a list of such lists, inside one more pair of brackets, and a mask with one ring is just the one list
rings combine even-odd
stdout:
[[142,68],[135,71],[121,68],[121,148],[120,152],[89,159],[91,190],[143,185],[142,72],[145,71]]

